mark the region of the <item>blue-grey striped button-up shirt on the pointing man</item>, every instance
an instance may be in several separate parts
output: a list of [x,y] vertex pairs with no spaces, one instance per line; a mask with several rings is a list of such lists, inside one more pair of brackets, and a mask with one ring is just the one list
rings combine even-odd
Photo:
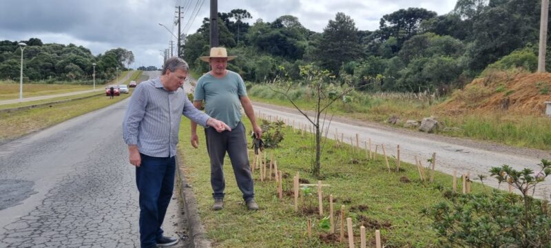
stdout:
[[160,78],[138,84],[123,121],[123,139],[138,145],[140,153],[154,157],[176,155],[181,114],[203,127],[210,118],[187,99],[182,88],[169,92]]

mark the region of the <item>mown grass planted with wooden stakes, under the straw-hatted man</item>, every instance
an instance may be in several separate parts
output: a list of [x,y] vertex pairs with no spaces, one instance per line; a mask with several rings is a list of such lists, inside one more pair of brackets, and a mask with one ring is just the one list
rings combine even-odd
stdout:
[[[245,120],[244,123],[247,130],[251,130],[249,121]],[[228,159],[225,161],[225,209],[212,211],[209,158],[204,132],[198,131],[201,143],[199,149],[194,149],[189,145],[188,125],[189,120],[183,118],[179,145],[180,154],[183,154],[183,170],[188,183],[193,185],[200,218],[215,247],[348,247],[346,243],[320,241],[320,234],[326,234],[326,231],[318,227],[318,196],[314,194],[305,200],[306,207],[311,205],[315,208],[313,214],[295,213],[293,197],[284,196],[282,201],[278,200],[275,182],[260,182],[258,169],[253,177],[260,211],[247,211]],[[266,151],[268,154],[273,153],[274,160],[284,174],[284,192],[292,192],[292,178],[296,172],[300,172],[300,177],[310,183],[317,182],[309,174],[313,138],[311,134],[304,137],[293,134],[290,129],[285,129],[284,134],[279,148]],[[426,158],[429,156],[426,154]],[[422,158],[424,165],[428,165],[426,158]],[[393,158],[390,158],[390,163],[395,167]],[[326,197],[333,194],[336,199],[335,218],[338,216],[336,209],[345,205],[346,217],[353,218],[358,247],[361,218],[390,223],[391,227],[381,228],[386,247],[438,247],[430,220],[422,216],[420,211],[444,199],[436,189],[437,185],[445,185],[449,189],[452,177],[436,172],[435,183],[429,185],[419,180],[417,169],[412,165],[402,162],[401,167],[404,171],[389,174],[382,156],[375,161],[368,161],[364,150],[353,151],[349,145],[336,145],[334,141],[327,141],[321,172],[322,183],[331,187],[323,189],[324,214],[329,215],[329,200]],[[402,176],[409,178],[411,183],[402,183]],[[473,184],[472,189],[473,192],[479,191],[481,185]],[[359,210],[360,207],[366,209]],[[313,238],[308,238],[306,234],[308,218],[313,220]],[[337,226],[339,223],[335,220]],[[337,228],[336,233],[339,234],[340,229]],[[367,223],[366,233],[368,244],[374,244],[375,229]]]

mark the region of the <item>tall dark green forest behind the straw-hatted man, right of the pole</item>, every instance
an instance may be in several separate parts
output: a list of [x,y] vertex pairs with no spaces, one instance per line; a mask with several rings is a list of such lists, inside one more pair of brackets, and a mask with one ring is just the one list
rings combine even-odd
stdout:
[[[249,25],[251,14],[236,9],[218,13],[218,35],[238,56],[229,69],[253,83],[299,79],[300,66],[313,64],[365,90],[446,93],[490,68],[536,70],[540,11],[540,0],[458,0],[448,14],[385,14],[373,31],[358,30],[338,12],[323,32],[313,32],[291,15]],[[209,25],[203,19],[185,42],[184,58],[201,72],[209,69],[198,60],[209,53]]]

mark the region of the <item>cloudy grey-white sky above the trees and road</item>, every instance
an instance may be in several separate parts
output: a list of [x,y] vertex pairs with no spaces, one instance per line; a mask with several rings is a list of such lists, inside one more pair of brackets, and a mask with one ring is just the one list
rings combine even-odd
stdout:
[[[291,14],[309,30],[322,32],[337,12],[354,19],[359,30],[376,30],[384,14],[402,8],[450,12],[457,0],[233,0],[218,1],[218,12],[245,9],[256,19],[273,21]],[[163,62],[160,50],[174,39],[175,6],[182,6],[183,31],[196,32],[209,17],[210,0],[0,0],[0,40],[39,38],[43,43],[83,45],[97,55],[113,48],[134,52],[136,68]],[[194,14],[196,13],[196,14]],[[195,18],[194,18],[195,17]],[[176,42],[175,42],[176,43]]]

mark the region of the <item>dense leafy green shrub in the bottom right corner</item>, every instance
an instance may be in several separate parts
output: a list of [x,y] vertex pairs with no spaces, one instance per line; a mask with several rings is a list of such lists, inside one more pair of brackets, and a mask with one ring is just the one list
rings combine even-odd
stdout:
[[[517,171],[508,165],[492,167],[499,183],[510,183],[521,196],[493,189],[490,194],[446,192],[448,202],[423,213],[434,220],[433,228],[443,247],[551,247],[548,203],[529,196],[551,173],[551,162],[541,160],[541,171]],[[480,176],[480,178],[484,178]]]

